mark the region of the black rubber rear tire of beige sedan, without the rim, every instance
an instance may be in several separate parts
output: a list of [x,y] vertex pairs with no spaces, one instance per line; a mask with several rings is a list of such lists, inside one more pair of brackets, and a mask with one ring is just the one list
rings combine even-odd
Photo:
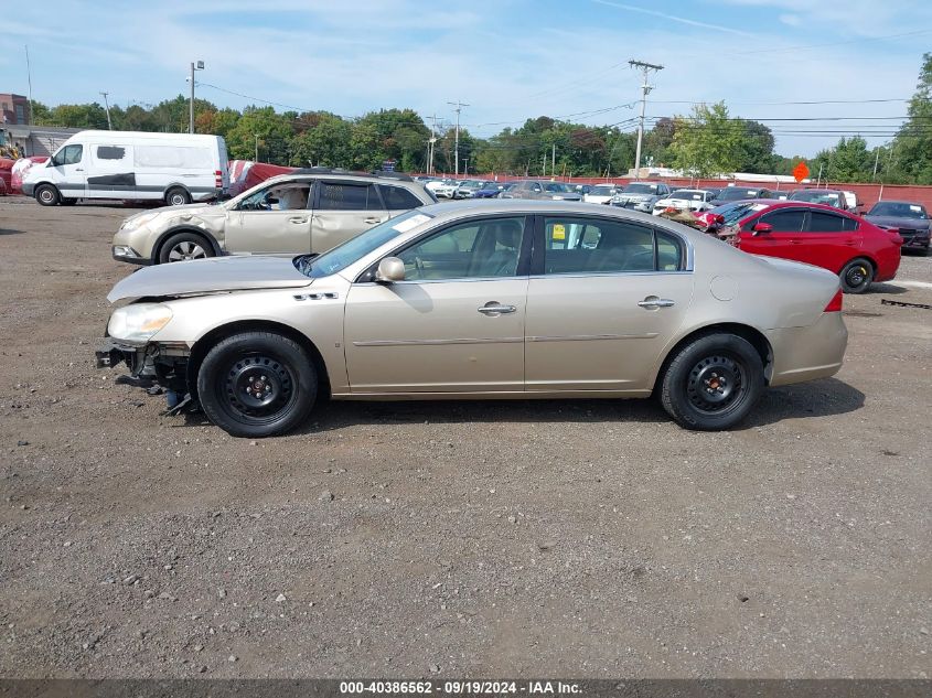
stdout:
[[[699,361],[713,354],[730,357],[739,364],[742,373],[740,396],[721,414],[697,410],[687,395],[689,372]],[[707,334],[683,346],[669,362],[662,378],[661,404],[686,429],[717,431],[741,422],[760,399],[763,387],[763,362],[750,342],[735,334]]]

